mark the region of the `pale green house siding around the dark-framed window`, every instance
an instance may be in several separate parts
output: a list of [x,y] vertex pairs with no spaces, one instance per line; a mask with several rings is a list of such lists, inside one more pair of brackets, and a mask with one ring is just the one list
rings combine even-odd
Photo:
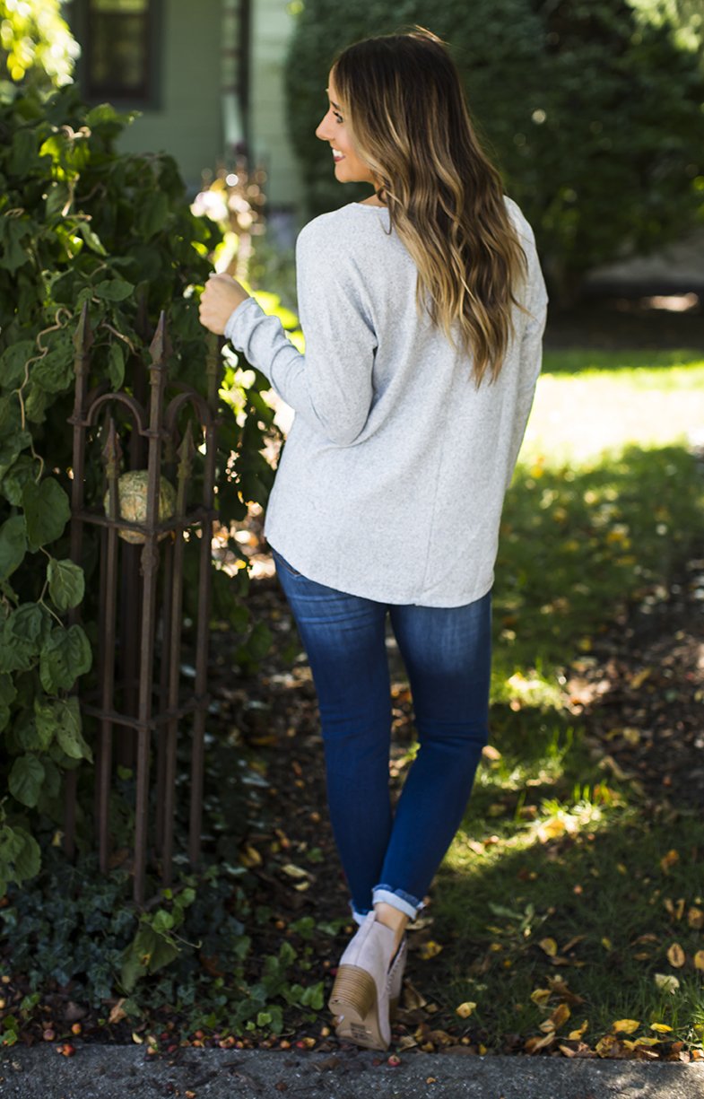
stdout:
[[[89,3],[70,0],[65,8],[85,51],[78,69],[81,84],[90,49]],[[243,3],[249,11],[246,115],[236,90],[243,76],[237,57]],[[150,0],[150,101],[143,107],[113,100],[119,110],[142,112],[121,137],[120,147],[170,153],[194,193],[203,169],[212,171],[223,162],[228,142],[232,160],[232,144],[246,136],[253,163],[262,164],[268,173],[271,207],[294,208],[301,182],[283,98],[283,62],[292,30],[287,0]]]

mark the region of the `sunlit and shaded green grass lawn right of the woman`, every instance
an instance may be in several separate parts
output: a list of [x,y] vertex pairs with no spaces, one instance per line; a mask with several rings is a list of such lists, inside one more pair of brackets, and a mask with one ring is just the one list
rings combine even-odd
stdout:
[[605,767],[566,685],[701,546],[704,358],[574,351],[545,371],[496,568],[492,748],[434,891],[432,992],[489,1047],[678,1040],[686,1056],[704,1036],[704,819]]

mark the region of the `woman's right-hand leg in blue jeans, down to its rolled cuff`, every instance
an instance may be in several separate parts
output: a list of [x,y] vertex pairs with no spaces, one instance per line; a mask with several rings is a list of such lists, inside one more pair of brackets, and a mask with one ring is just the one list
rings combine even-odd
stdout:
[[375,904],[413,915],[460,825],[487,743],[491,596],[466,607],[392,607],[420,747],[406,777]]

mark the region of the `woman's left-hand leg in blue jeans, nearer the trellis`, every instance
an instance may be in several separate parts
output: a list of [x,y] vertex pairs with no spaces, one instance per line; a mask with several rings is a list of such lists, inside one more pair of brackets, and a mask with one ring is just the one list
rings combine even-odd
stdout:
[[315,584],[273,556],[313,673],[333,833],[364,915],[391,833],[387,607]]

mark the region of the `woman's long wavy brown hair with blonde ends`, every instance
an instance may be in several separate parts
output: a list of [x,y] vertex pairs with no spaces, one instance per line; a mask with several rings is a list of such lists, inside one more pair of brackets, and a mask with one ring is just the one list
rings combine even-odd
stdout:
[[416,264],[418,308],[471,356],[477,386],[487,373],[493,381],[526,259],[445,44],[422,27],[366,38],[337,57],[332,77]]

